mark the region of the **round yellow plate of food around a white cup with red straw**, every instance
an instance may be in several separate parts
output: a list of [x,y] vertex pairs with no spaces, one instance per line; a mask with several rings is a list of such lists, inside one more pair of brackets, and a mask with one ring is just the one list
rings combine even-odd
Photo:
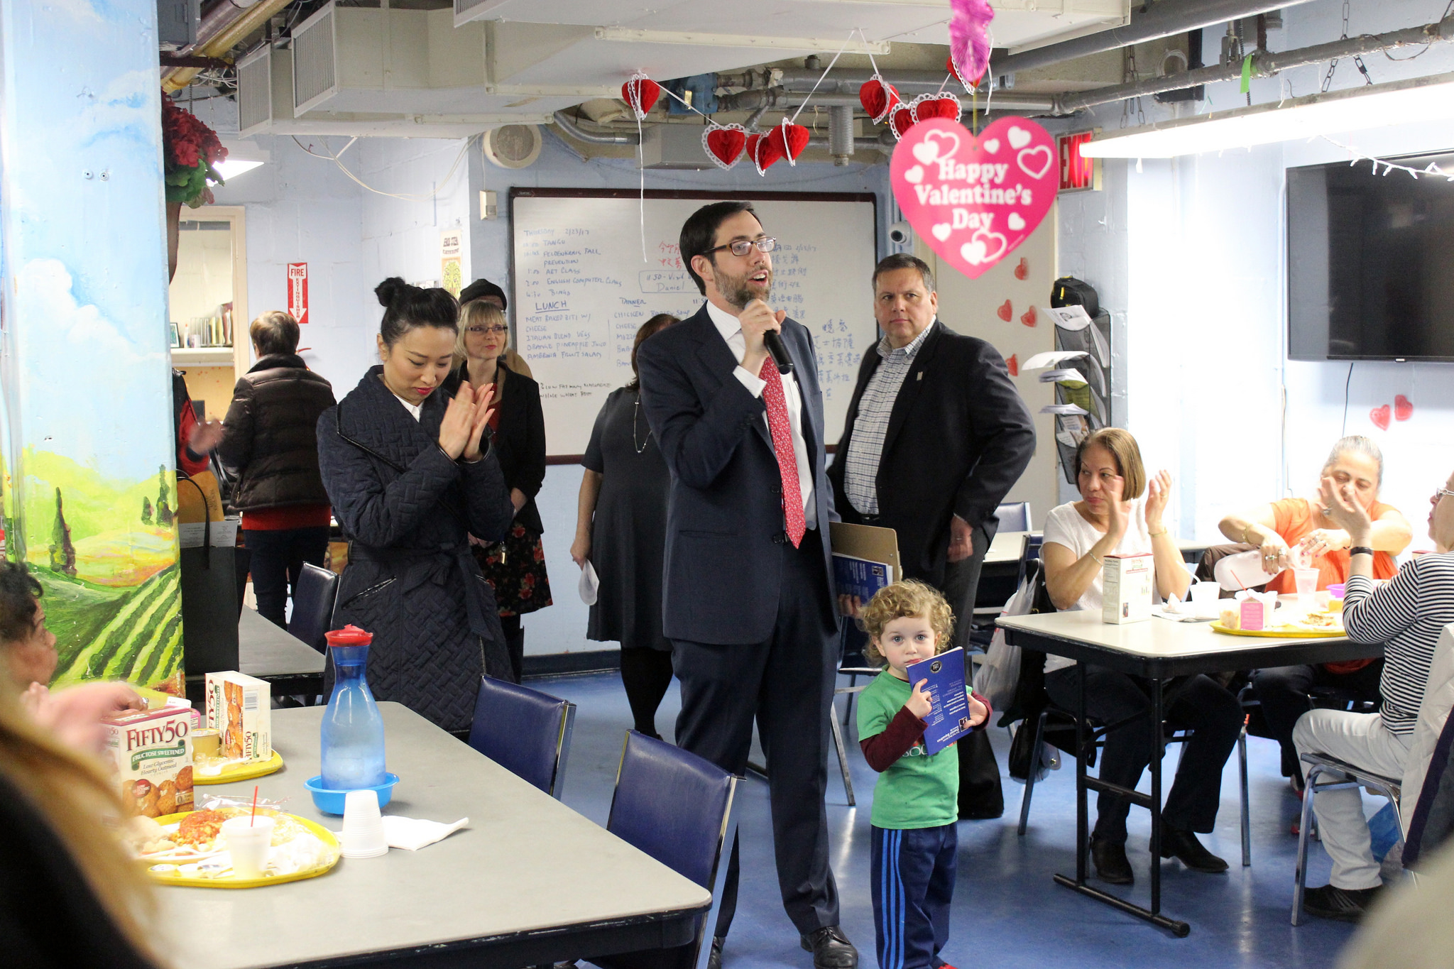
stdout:
[[332,831],[298,815],[259,808],[259,815],[273,818],[266,873],[236,876],[222,822],[247,811],[224,806],[161,818],[135,816],[126,821],[122,837],[147,866],[147,877],[161,885],[260,888],[317,877],[339,863],[339,840]]

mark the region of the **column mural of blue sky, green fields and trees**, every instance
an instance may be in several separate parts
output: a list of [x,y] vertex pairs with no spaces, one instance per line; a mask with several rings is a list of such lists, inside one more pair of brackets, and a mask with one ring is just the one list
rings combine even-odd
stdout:
[[0,3],[4,527],[58,683],[180,693],[154,12]]

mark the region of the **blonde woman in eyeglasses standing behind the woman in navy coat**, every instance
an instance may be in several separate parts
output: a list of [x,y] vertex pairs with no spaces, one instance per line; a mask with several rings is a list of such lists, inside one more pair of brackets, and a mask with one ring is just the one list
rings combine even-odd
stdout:
[[[468,381],[471,386],[494,385],[494,415],[486,429],[505,487],[510,490],[515,520],[502,542],[480,542],[470,536],[474,558],[484,578],[494,587],[494,600],[510,654],[510,670],[521,681],[525,661],[525,613],[551,604],[550,577],[545,574],[545,549],[541,545],[541,513],[535,494],[545,482],[545,415],[541,388],[534,379],[505,363],[509,346],[505,311],[493,302],[471,299],[459,309],[459,338],[455,343],[458,366],[445,389]],[[481,384],[483,381],[483,384]]]

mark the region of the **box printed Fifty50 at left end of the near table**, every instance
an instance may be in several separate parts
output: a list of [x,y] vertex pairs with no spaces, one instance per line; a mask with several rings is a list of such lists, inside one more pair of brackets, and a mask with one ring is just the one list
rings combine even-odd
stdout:
[[192,710],[160,708],[105,721],[121,798],[148,818],[192,809]]

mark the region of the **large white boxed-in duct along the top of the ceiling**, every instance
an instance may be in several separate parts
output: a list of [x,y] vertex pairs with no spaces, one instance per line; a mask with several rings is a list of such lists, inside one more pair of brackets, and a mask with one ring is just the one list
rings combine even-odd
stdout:
[[[999,0],[993,42],[1013,51],[1104,31],[1128,22],[1130,4]],[[275,119],[355,134],[423,135],[422,123],[480,131],[619,97],[635,71],[667,80],[807,54],[826,65],[845,46],[891,62],[894,44],[949,39],[948,0],[455,0],[454,12],[336,13],[334,52],[324,54],[333,60],[318,67],[333,90],[307,113],[294,118],[284,106]],[[906,49],[923,57],[922,48]]]

